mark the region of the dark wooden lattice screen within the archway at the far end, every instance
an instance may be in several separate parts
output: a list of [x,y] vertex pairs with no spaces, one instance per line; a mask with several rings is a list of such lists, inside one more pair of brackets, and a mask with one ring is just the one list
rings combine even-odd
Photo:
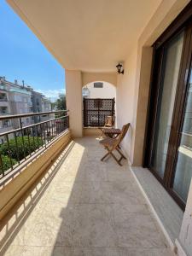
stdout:
[[114,99],[84,98],[84,126],[103,126],[108,115],[114,115]]

